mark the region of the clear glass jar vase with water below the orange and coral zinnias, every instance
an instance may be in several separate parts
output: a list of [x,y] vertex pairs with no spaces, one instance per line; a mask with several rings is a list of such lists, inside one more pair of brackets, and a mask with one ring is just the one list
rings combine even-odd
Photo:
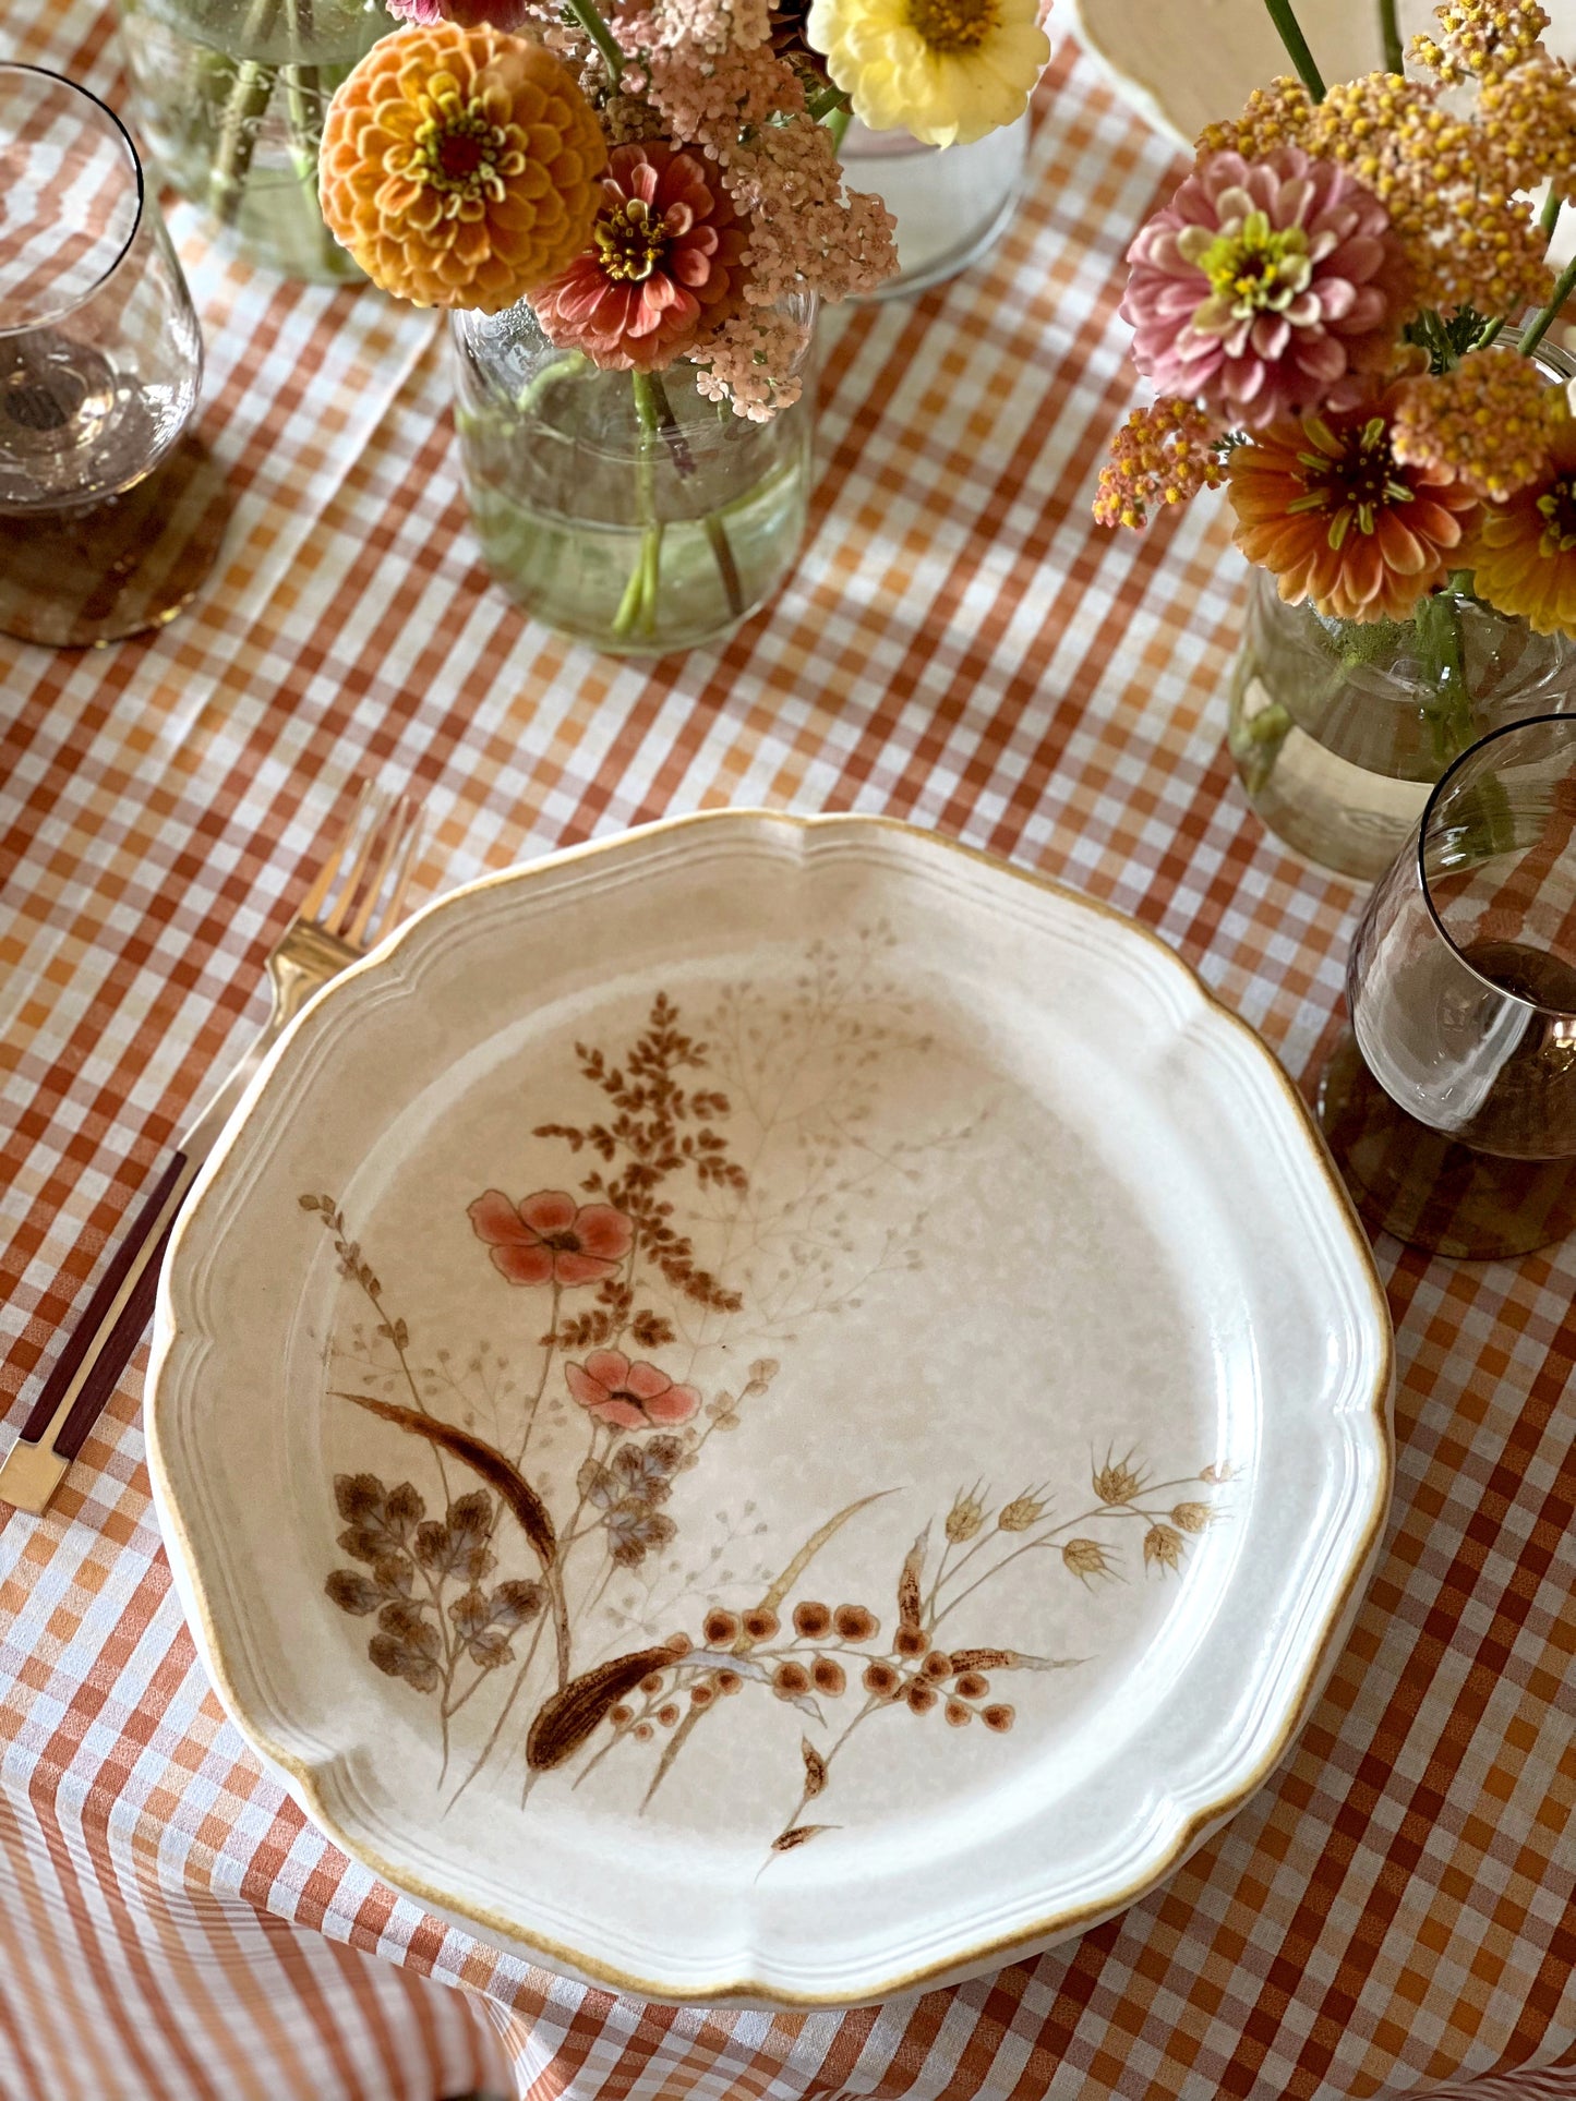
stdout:
[[813,473],[815,303],[803,395],[771,422],[708,401],[696,368],[601,372],[527,303],[456,313],[454,420],[488,567],[536,620],[618,656],[721,641],[799,555]]

